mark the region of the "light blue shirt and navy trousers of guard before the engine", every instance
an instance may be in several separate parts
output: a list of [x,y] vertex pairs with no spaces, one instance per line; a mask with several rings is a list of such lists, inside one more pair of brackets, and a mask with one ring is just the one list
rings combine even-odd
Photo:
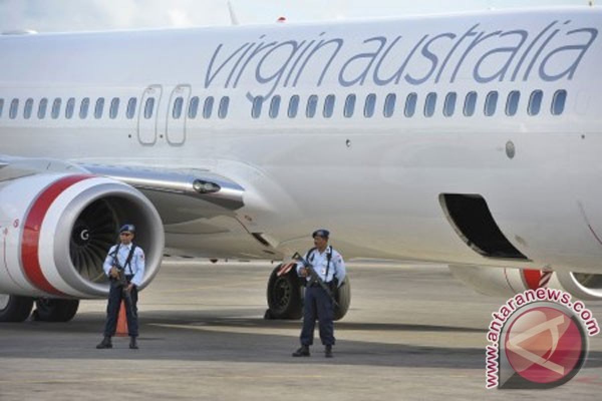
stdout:
[[109,300],[107,304],[107,323],[105,324],[104,332],[105,337],[113,337],[113,335],[115,335],[115,331],[117,329],[117,317],[119,316],[119,307],[122,299],[125,299],[126,302],[125,311],[128,318],[128,334],[130,337],[138,337],[137,287],[140,286],[144,278],[144,251],[142,248],[140,248],[140,246],[136,246],[131,263],[128,263],[128,265],[125,266],[132,246],[135,245],[133,243],[129,243],[129,245],[123,245],[122,243],[119,245],[119,251],[117,254],[115,254],[117,245],[113,245],[109,250],[104,265],[102,266],[105,274],[108,276],[111,266],[113,266],[114,258],[117,258],[119,266],[123,266],[125,268],[125,277],[128,280],[128,283],[134,284],[134,287],[132,287],[130,292],[132,304],[128,305],[128,299],[123,297],[123,287],[118,286],[119,283],[114,278],[109,278],[110,287]]

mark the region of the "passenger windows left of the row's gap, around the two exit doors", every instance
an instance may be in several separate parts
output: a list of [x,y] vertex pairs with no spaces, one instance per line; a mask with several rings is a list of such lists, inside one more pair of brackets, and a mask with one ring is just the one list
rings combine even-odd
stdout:
[[[156,100],[154,97],[148,97],[146,99],[146,101],[144,102],[144,108],[141,112],[143,112],[143,116],[147,120],[152,118],[155,114],[155,102],[156,102]],[[215,103],[215,101],[214,101],[213,96],[206,97],[205,101],[203,102],[203,108],[202,108],[203,118],[211,118],[211,115],[213,114],[214,103]],[[219,118],[226,118],[226,116],[228,115],[229,103],[230,103],[230,99],[228,96],[224,96],[224,97],[222,97],[222,99],[220,99],[219,106],[217,109],[217,116]],[[172,118],[174,118],[175,120],[178,120],[179,118],[182,117],[183,104],[184,104],[184,98],[176,97],[176,99],[173,102],[173,109],[172,109]],[[17,118],[17,116],[19,115],[19,110],[20,110],[19,105],[20,105],[20,99],[15,98],[15,99],[11,100],[10,105],[8,106],[8,118],[10,118],[11,120],[14,120],[15,118]],[[75,97],[70,97],[69,99],[67,99],[67,102],[65,102],[64,111],[63,111],[64,117],[67,118],[67,120],[69,120],[69,119],[73,118],[75,116],[75,114],[77,113],[79,118],[82,118],[82,119],[87,118],[88,114],[90,114],[90,105],[91,105],[91,103],[90,103],[89,97],[84,97],[83,99],[81,99],[81,101],[78,103],[78,105],[76,105]],[[111,119],[117,118],[117,116],[119,115],[120,105],[121,105],[121,99],[119,97],[113,97],[113,99],[111,99],[111,102],[110,102],[110,105],[108,108],[108,117],[109,118],[111,118]],[[126,115],[126,118],[128,118],[128,120],[131,120],[132,118],[135,117],[136,111],[137,111],[137,105],[138,105],[138,99],[136,97],[130,97],[127,102],[126,108],[125,108],[125,115]],[[50,106],[50,109],[49,109],[49,106]],[[76,109],[76,106],[77,106],[77,109]],[[188,117],[196,118],[198,108],[199,108],[199,97],[194,96],[190,99],[190,104],[188,107]],[[3,110],[4,110],[4,99],[0,99],[0,118],[2,118]],[[28,99],[25,100],[25,102],[23,102],[22,115],[23,115],[23,118],[25,118],[25,120],[29,120],[29,118],[32,118],[34,115],[36,115],[37,118],[40,118],[40,119],[46,118],[47,116],[57,119],[61,116],[61,110],[63,110],[63,99],[60,97],[55,98],[52,101],[52,105],[49,105],[48,99],[46,97],[43,97],[38,102],[36,108],[34,108],[34,99],[29,97]],[[104,116],[104,112],[105,112],[105,98],[99,97],[98,99],[96,99],[96,102],[94,103],[92,115],[96,119],[101,119]]]

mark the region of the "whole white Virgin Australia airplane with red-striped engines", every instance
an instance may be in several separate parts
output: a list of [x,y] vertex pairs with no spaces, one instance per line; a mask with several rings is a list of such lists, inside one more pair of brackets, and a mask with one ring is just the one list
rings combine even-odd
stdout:
[[[561,7],[0,35],[0,321],[105,298],[123,222],[142,287],[164,255],[281,261],[325,227],[346,259],[602,299],[601,25]],[[291,267],[266,317],[301,316]]]

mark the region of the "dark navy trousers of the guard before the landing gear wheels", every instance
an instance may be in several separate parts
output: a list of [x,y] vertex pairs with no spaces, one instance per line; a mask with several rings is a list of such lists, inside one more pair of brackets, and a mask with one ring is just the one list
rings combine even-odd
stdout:
[[332,300],[321,287],[308,287],[305,290],[305,307],[303,310],[303,329],[301,331],[301,344],[314,343],[315,317],[320,325],[320,340],[324,345],[334,345],[334,305]]

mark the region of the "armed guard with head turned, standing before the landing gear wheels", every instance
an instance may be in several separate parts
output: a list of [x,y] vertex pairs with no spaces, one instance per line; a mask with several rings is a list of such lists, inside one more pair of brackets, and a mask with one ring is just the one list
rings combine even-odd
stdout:
[[[328,230],[314,231],[312,237],[314,237],[315,247],[309,249],[305,254],[305,260],[311,263],[322,281],[334,290],[335,283],[338,282],[338,286],[343,284],[345,262],[343,262],[341,254],[332,249],[332,245],[328,246],[329,236]],[[332,299],[326,290],[320,287],[320,284],[309,283],[309,272],[302,263],[297,263],[297,274],[307,278],[308,287],[305,290],[303,329],[300,336],[301,347],[293,352],[293,357],[309,357],[309,346],[314,343],[315,316],[317,314],[320,323],[320,339],[324,344],[324,356],[332,358],[332,346],[335,343]]]

